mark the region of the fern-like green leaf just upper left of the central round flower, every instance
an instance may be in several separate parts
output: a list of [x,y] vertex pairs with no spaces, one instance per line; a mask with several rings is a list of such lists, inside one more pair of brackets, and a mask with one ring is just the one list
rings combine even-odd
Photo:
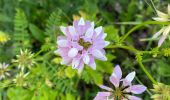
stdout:
[[47,20],[45,35],[49,36],[52,40],[55,41],[57,32],[59,31],[59,25],[61,25],[61,9],[57,9],[50,15]]

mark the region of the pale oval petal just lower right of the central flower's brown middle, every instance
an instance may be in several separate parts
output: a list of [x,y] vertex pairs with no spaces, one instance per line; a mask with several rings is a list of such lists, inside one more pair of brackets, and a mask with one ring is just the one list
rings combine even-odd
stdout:
[[106,56],[100,50],[97,50],[97,49],[93,50],[92,55],[97,59],[100,59],[103,61],[107,60]]

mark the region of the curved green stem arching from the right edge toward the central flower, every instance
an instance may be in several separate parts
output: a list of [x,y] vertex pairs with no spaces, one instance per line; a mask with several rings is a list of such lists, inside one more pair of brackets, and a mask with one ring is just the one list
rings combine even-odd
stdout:
[[158,22],[158,21],[147,21],[144,23],[141,23],[137,26],[134,26],[132,29],[130,29],[120,40],[120,43],[122,43],[132,32],[137,30],[138,28],[144,26],[144,25],[149,25],[149,24],[161,24],[161,25],[168,25],[170,22]]

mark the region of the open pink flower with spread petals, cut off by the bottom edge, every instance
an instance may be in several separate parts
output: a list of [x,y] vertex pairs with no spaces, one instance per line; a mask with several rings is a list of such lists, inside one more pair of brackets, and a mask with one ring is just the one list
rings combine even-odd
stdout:
[[141,100],[141,98],[131,94],[141,94],[146,90],[146,87],[143,85],[132,85],[131,82],[134,77],[135,72],[131,72],[122,79],[122,71],[120,66],[117,65],[110,76],[110,82],[114,85],[114,89],[100,85],[100,88],[107,92],[98,92],[94,100]]

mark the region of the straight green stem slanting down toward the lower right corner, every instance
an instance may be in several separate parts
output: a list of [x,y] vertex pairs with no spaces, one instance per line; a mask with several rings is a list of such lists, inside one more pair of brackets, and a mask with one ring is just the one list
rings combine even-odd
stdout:
[[145,68],[145,66],[142,64],[141,61],[138,61],[139,66],[141,67],[141,69],[145,72],[145,74],[147,75],[147,77],[152,81],[153,84],[157,84],[157,82],[154,80],[154,78],[151,76],[151,74],[147,71],[147,69]]

